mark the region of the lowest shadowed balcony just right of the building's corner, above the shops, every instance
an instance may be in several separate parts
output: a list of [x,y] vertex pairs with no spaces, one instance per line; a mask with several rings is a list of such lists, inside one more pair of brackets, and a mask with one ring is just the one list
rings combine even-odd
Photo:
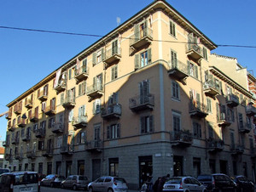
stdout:
[[193,144],[192,133],[189,130],[180,130],[171,133],[172,147],[178,146],[182,148],[189,147]]

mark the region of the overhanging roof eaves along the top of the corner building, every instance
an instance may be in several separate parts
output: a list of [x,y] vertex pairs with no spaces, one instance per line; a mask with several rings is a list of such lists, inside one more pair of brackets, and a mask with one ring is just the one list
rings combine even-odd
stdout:
[[[123,27],[125,27],[125,25],[134,25],[137,22],[137,16],[141,15],[144,16],[145,14],[148,14],[148,10],[149,12],[154,11],[156,8],[169,8],[172,9],[172,11],[177,14],[177,16],[180,16],[183,20],[185,20],[187,22],[188,25],[190,25],[190,27],[192,29],[190,29],[190,31],[196,31],[198,33],[198,35],[200,35],[201,37],[204,37],[207,42],[209,42],[211,44],[210,48],[211,50],[214,48],[217,48],[218,46],[212,42],[212,40],[210,40],[206,35],[204,35],[199,29],[197,29],[195,27],[195,25],[193,25],[192,23],[190,23],[189,20],[187,20],[183,14],[180,14],[175,8],[173,8],[169,3],[166,3],[165,0],[154,0],[154,2],[148,4],[148,6],[146,6],[145,8],[143,8],[141,11],[137,12],[137,14],[134,14],[130,19],[125,20],[124,23],[122,23],[121,25],[117,26],[116,28],[114,28],[112,31],[108,32],[107,35],[103,36],[102,38],[100,38],[99,40],[97,40],[96,42],[92,43],[89,47],[84,48],[83,51],[81,51],[79,54],[76,54],[75,56],[73,56],[72,59],[67,60],[66,63],[64,63],[63,65],[61,65],[59,68],[57,68],[55,71],[51,72],[49,74],[49,76],[46,76],[43,80],[41,80],[40,82],[38,82],[36,85],[34,85],[32,88],[29,88],[25,93],[22,93],[19,97],[17,97],[16,99],[14,99],[13,101],[11,101],[9,104],[7,104],[7,107],[11,107],[12,105],[14,105],[15,103],[18,102],[18,100],[25,98],[27,95],[29,95],[30,93],[33,93],[35,91],[35,89],[38,89],[42,86],[42,84],[44,84],[45,82],[49,82],[51,79],[54,79],[55,77],[55,72],[60,70],[60,69],[66,69],[68,68],[70,65],[73,65],[76,62],[76,59],[83,59],[87,54],[90,54],[90,52],[93,52],[97,49],[98,46],[100,46],[102,43],[105,44],[106,41],[109,41],[109,39],[113,38],[114,35],[118,35],[119,31],[123,31]],[[151,9],[150,9],[151,8]],[[166,9],[165,9],[166,10]],[[167,11],[167,10],[166,10]],[[188,30],[188,29],[187,29]],[[105,41],[105,42],[104,42]],[[210,47],[210,45],[209,45]]]

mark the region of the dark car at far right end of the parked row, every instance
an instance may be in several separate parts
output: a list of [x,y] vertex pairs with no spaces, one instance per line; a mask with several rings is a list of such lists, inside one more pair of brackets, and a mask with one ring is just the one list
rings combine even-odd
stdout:
[[234,177],[234,181],[236,182],[237,191],[254,191],[254,184],[249,179],[247,179],[247,177],[243,175],[238,175]]

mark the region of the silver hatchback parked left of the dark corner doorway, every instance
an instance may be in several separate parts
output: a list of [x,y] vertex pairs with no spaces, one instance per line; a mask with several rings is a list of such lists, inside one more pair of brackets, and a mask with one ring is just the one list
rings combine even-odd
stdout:
[[108,191],[108,192],[126,192],[128,190],[125,178],[102,176],[88,184],[88,189],[92,191]]

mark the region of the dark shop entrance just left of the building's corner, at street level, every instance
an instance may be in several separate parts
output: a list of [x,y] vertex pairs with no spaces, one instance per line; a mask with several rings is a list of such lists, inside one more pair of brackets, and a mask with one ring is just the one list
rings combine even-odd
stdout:
[[139,184],[142,186],[153,173],[152,156],[139,156],[139,171]]

